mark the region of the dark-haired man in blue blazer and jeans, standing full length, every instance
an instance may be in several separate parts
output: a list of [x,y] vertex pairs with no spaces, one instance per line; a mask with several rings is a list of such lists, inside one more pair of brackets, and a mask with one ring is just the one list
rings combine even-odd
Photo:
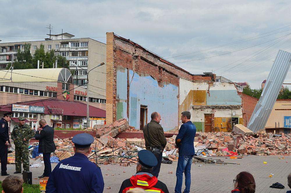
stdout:
[[183,172],[185,174],[185,189],[184,193],[190,192],[191,185],[191,164],[192,158],[195,155],[194,137],[196,135],[196,127],[190,121],[191,113],[183,111],[181,115],[182,125],[176,137],[176,146],[179,148],[178,165],[176,170],[176,187],[175,193],[181,193],[183,183]]

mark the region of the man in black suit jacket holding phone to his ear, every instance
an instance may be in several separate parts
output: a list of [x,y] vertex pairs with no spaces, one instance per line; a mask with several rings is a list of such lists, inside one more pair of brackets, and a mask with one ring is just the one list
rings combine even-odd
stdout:
[[52,173],[52,166],[50,162],[51,153],[56,150],[56,145],[54,144],[54,128],[49,127],[44,119],[39,122],[36,131],[36,140],[39,140],[38,152],[43,155],[43,162],[45,164],[44,172],[38,178],[49,177]]

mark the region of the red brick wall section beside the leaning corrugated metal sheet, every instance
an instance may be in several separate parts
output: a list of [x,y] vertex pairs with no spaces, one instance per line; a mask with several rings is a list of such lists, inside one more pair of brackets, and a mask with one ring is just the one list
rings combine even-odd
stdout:
[[244,119],[244,126],[247,126],[249,120],[253,114],[258,99],[249,95],[238,92],[242,98],[242,118]]

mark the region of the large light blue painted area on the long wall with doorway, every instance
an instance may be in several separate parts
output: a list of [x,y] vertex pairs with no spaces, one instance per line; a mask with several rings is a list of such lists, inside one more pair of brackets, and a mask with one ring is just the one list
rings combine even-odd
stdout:
[[[126,100],[127,93],[127,71],[117,70],[117,97]],[[132,81],[131,81],[132,80]],[[140,106],[148,106],[148,122],[150,114],[157,111],[161,114],[160,124],[164,131],[178,126],[178,87],[172,84],[159,87],[151,76],[139,76],[129,71],[129,124],[136,129],[140,127]],[[126,116],[126,102],[123,106],[123,116]],[[117,109],[118,111],[118,109]],[[119,113],[120,114],[120,113]],[[126,117],[123,117],[126,118]]]

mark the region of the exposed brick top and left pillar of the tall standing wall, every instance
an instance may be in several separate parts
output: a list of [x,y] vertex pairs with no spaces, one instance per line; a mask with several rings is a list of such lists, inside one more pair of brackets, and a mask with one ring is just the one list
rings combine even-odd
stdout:
[[[211,76],[192,75],[188,71],[168,62],[129,39],[107,32],[106,46],[106,120],[116,121],[116,69],[122,66],[138,73],[151,76],[159,86],[173,84],[179,87],[179,78],[189,81],[213,83]],[[215,75],[214,75],[215,81]],[[179,98],[179,96],[177,96]],[[127,100],[128,103],[128,100]],[[127,104],[129,107],[129,103]],[[127,110],[128,111],[128,110]],[[178,111],[178,104],[177,104]]]

